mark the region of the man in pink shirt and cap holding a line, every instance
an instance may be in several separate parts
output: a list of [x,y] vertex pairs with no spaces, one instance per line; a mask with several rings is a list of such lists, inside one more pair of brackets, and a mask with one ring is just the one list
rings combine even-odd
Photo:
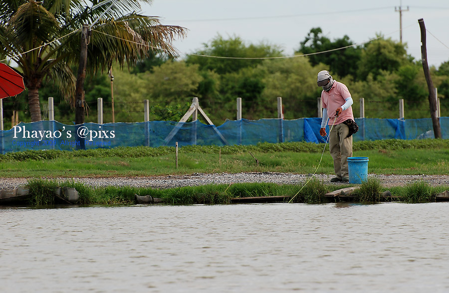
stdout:
[[348,157],[352,157],[352,132],[348,125],[355,124],[351,107],[353,100],[346,85],[333,80],[327,70],[318,72],[317,84],[323,88],[321,92],[323,119],[320,135],[326,136],[326,124],[331,129],[329,149],[334,159],[335,171],[335,177],[331,182],[348,182]]

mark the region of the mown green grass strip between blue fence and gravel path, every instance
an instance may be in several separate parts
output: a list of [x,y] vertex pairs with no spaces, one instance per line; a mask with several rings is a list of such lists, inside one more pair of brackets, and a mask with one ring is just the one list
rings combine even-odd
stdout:
[[[25,151],[0,155],[0,177],[113,177],[192,173],[315,172],[324,144],[291,142],[252,146],[127,147],[77,151]],[[371,174],[447,175],[449,140],[380,140],[354,143],[354,156],[369,157]],[[332,174],[326,146],[317,173]],[[258,160],[258,164],[253,156]]]

